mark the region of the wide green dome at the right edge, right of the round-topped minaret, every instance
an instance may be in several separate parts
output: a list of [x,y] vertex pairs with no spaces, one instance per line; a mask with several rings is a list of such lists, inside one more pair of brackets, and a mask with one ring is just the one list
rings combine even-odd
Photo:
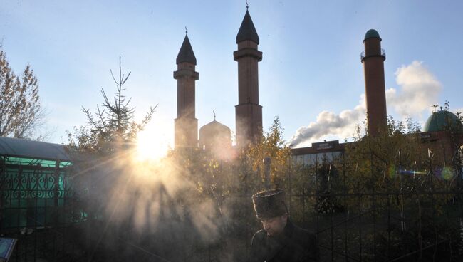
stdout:
[[457,115],[447,110],[433,112],[427,119],[423,132],[435,132],[448,129],[461,132],[463,130],[462,122]]

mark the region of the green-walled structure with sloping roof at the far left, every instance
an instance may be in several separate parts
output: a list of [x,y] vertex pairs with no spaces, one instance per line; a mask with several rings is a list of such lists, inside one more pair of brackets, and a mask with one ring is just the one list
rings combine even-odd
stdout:
[[0,137],[0,231],[73,221],[69,167],[63,145]]

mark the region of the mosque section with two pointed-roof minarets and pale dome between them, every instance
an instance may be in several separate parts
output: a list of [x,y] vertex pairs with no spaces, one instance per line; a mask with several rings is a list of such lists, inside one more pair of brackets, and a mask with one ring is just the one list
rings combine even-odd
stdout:
[[[262,106],[259,105],[259,70],[262,52],[258,50],[259,36],[249,11],[236,35],[238,48],[234,51],[234,60],[238,62],[238,105],[236,115],[236,147],[245,147],[259,140],[262,130]],[[195,81],[199,73],[194,68],[196,57],[185,36],[177,56],[177,118],[175,119],[175,148],[199,147],[204,150],[222,150],[231,148],[229,127],[215,120],[199,129],[195,117]]]

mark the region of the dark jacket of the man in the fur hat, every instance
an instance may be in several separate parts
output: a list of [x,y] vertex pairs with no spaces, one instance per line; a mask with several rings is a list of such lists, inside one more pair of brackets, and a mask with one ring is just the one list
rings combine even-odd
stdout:
[[316,236],[288,219],[283,234],[278,238],[267,236],[264,230],[254,234],[249,262],[319,261],[318,252]]

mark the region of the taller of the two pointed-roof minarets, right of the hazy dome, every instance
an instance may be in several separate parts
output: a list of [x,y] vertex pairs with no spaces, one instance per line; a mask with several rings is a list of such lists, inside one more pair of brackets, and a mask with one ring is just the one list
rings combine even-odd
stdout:
[[236,35],[238,50],[234,60],[238,62],[238,105],[236,112],[236,146],[245,147],[260,139],[262,132],[262,106],[259,105],[259,70],[262,52],[257,50],[259,36],[249,11],[246,10]]

